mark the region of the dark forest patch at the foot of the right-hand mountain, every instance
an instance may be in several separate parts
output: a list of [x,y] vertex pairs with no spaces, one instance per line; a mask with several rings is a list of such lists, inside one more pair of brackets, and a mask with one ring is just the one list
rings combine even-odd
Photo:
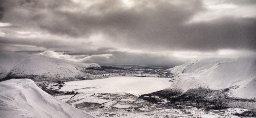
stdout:
[[[241,98],[232,98],[227,96],[218,96],[210,89],[198,88],[189,89],[185,93],[179,90],[161,90],[151,94],[141,95],[140,98],[151,103],[168,106],[169,108],[184,109],[186,106],[193,106],[205,110],[221,110],[225,108],[246,108],[256,109],[254,100]],[[145,97],[146,96],[146,97]],[[161,99],[166,99],[167,103],[160,103],[161,100],[155,99],[158,96]]]

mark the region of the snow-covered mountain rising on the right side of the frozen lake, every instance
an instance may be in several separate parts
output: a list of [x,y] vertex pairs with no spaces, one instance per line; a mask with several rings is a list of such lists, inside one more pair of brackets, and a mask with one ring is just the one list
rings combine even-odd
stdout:
[[188,90],[208,88],[213,90],[231,87],[229,96],[256,97],[256,57],[238,59],[203,59],[185,63],[166,70],[173,76],[170,89]]

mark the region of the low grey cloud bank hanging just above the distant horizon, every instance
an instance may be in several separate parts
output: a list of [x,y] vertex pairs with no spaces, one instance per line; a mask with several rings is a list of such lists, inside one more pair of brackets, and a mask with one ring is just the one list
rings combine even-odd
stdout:
[[[151,65],[151,66],[165,66],[165,67],[174,67],[177,65],[181,65],[182,62],[180,59],[175,59],[173,57],[168,57],[165,54],[161,53],[132,53],[132,52],[118,52],[118,51],[102,51],[95,53],[68,53],[64,52],[63,55],[104,55],[111,54],[112,56],[109,58],[109,62],[97,61],[99,64],[142,64],[142,65]],[[88,62],[88,60],[82,61],[84,63],[92,63]]]

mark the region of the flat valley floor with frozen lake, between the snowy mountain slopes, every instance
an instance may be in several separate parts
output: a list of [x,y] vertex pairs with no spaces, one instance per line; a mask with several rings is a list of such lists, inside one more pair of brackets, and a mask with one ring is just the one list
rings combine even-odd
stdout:
[[255,101],[227,96],[232,88],[166,93],[163,90],[174,78],[164,68],[105,68],[86,70],[90,76],[76,80],[36,81],[36,84],[59,100],[98,118],[239,118],[234,113],[256,109]]

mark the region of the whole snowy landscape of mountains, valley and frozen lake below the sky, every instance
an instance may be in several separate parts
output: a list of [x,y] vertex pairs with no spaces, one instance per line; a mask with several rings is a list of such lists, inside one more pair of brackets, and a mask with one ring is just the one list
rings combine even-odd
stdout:
[[[211,117],[206,114],[211,109],[256,109],[254,56],[202,59],[171,69],[139,65],[101,67],[95,63],[78,63],[18,52],[1,52],[0,59],[1,114],[4,118],[58,118],[63,114],[74,117],[73,109],[77,109],[73,107],[85,112],[92,110],[100,117],[107,111],[154,112],[160,115],[170,109],[174,109],[171,110],[172,115],[184,115],[186,110],[179,109],[186,109],[190,105],[193,107],[190,106],[186,112],[201,117]],[[36,84],[29,79],[18,79],[22,77],[33,79]],[[62,102],[59,103],[59,100]],[[65,111],[67,106],[69,110],[72,109],[71,112]],[[44,111],[44,108],[50,111]],[[11,112],[13,116],[9,115]],[[53,112],[57,113],[56,116],[51,115]],[[76,115],[80,117],[79,114]],[[106,116],[124,117],[121,113]]]

